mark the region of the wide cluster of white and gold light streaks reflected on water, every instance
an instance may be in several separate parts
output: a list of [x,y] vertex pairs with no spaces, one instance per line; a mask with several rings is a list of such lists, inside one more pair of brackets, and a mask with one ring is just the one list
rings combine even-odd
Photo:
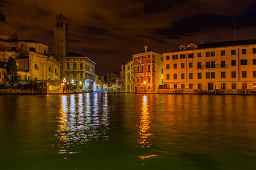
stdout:
[[104,94],[60,96],[58,153],[78,153],[80,145],[93,139],[108,141],[109,112],[108,96]]

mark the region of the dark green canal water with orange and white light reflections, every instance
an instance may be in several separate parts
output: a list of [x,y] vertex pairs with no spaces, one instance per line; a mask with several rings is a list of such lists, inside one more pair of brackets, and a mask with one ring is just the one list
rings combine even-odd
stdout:
[[0,169],[256,169],[256,96],[0,96]]

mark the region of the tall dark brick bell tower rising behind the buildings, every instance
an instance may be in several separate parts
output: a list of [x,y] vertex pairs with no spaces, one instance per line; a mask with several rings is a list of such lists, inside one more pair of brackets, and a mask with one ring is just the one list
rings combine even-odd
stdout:
[[68,20],[57,15],[54,20],[53,56],[60,62],[60,80],[65,77],[65,56],[68,54]]

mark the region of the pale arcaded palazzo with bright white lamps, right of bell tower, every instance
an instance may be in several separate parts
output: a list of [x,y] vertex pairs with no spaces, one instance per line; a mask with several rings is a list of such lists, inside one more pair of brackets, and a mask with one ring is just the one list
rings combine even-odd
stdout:
[[95,90],[96,63],[78,53],[68,53],[65,56],[65,79],[73,90]]

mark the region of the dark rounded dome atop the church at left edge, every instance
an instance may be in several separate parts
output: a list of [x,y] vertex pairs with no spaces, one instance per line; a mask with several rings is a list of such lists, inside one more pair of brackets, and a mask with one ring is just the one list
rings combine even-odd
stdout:
[[17,32],[16,29],[6,22],[5,20],[5,12],[3,10],[0,11],[0,39],[2,40],[17,40]]

